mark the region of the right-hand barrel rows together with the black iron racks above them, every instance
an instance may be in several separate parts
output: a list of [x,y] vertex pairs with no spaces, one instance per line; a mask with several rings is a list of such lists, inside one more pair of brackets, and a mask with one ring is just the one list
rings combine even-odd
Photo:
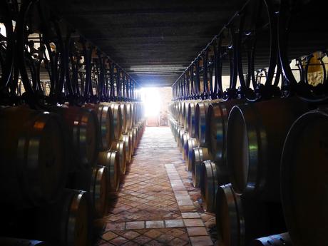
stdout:
[[327,245],[324,9],[247,1],[173,84],[170,127],[219,245]]

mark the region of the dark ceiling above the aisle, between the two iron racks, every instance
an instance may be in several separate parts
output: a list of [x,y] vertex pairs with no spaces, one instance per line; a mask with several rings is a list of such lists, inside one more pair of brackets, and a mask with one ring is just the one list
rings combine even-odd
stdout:
[[52,1],[143,86],[170,86],[245,1]]

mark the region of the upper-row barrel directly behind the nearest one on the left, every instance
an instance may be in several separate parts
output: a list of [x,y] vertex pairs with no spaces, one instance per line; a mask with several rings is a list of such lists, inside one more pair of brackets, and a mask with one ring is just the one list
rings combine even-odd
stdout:
[[66,134],[71,145],[73,171],[96,165],[99,151],[99,124],[95,111],[76,106],[53,107],[63,116]]

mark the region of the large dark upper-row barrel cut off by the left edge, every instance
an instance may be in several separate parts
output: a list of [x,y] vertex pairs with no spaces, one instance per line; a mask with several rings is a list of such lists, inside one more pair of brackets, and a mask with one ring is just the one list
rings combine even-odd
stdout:
[[66,183],[62,118],[24,106],[0,109],[1,205],[22,209],[51,203]]

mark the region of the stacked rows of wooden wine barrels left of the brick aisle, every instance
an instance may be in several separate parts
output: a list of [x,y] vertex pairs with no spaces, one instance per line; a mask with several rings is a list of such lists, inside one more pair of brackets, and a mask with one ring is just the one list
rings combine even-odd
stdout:
[[142,107],[0,108],[0,244],[91,245],[143,134]]

